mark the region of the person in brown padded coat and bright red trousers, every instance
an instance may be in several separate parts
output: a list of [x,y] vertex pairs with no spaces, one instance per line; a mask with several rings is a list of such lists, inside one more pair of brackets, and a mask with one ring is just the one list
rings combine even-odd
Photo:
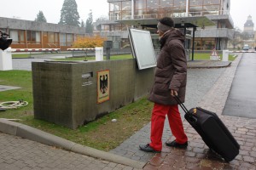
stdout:
[[183,122],[178,111],[177,95],[182,102],[185,99],[187,82],[187,60],[185,57],[182,31],[174,28],[174,21],[170,17],[160,19],[158,25],[160,36],[160,55],[157,59],[154,73],[154,86],[149,100],[154,102],[151,117],[150,144],[140,144],[140,150],[146,152],[160,152],[162,150],[162,134],[166,114],[172,134],[176,138],[166,142],[167,146],[186,148],[188,138],[183,130]]

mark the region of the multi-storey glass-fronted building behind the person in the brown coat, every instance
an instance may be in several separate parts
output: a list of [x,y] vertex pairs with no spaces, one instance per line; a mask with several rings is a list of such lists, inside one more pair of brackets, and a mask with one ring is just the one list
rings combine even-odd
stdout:
[[[171,16],[186,33],[186,48],[226,49],[234,35],[230,0],[108,0],[109,20],[98,21],[95,29],[113,40],[114,48],[129,46],[127,27],[151,31],[157,42],[157,20]],[[193,39],[195,37],[195,39]],[[191,41],[193,39],[193,41]]]

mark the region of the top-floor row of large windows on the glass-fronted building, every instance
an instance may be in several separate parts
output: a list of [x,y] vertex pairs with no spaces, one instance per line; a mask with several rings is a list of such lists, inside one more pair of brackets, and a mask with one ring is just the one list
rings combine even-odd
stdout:
[[[108,1],[109,2],[109,1]],[[131,3],[134,2],[132,17]],[[189,16],[223,14],[222,0],[134,0],[109,2],[109,19],[125,20],[161,18],[163,16],[184,17],[188,5]]]

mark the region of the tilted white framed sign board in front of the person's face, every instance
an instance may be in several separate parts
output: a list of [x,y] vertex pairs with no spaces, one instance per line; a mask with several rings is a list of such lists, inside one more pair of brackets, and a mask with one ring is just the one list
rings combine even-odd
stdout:
[[129,39],[139,70],[155,67],[156,59],[150,32],[130,28]]

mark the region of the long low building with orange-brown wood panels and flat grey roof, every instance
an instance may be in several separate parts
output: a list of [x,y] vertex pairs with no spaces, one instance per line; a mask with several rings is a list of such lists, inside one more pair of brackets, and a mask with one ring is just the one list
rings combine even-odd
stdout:
[[72,48],[77,37],[86,35],[85,29],[30,20],[0,17],[0,30],[13,39],[11,48]]

